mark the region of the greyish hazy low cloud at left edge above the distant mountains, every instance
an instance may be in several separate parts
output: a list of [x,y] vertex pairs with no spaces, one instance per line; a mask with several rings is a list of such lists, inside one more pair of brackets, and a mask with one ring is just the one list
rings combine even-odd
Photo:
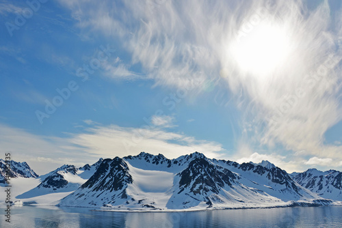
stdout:
[[[92,158],[84,157],[81,148],[65,139],[38,136],[3,124],[0,124],[0,145],[0,154],[10,153],[12,160],[28,162],[40,175],[60,167],[64,162],[79,164],[79,158],[83,158],[82,162],[92,162]],[[42,162],[42,158],[49,159],[49,162]]]

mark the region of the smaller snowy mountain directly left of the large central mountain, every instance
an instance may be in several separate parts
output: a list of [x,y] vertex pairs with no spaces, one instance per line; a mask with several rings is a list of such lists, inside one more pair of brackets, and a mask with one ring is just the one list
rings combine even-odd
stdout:
[[87,164],[80,168],[77,168],[74,165],[63,165],[50,173],[38,177],[40,179],[40,184],[36,186],[36,188],[18,195],[16,198],[26,199],[49,193],[75,191],[94,174],[102,161],[103,158],[100,158],[100,160],[93,165],[90,166]]

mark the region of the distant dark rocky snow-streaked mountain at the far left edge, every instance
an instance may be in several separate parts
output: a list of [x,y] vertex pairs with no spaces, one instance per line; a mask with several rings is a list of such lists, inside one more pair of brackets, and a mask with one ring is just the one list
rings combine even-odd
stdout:
[[17,177],[38,177],[38,174],[35,173],[26,162],[16,162],[14,160],[10,161],[10,169],[9,172],[6,173],[6,162],[5,160],[0,159],[0,184],[5,184],[5,176],[9,176],[10,179]]

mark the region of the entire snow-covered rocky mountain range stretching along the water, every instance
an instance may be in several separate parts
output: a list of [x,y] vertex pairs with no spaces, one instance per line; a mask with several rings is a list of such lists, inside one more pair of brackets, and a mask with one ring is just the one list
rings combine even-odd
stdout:
[[14,165],[13,177],[39,182],[16,196],[24,203],[39,203],[40,197],[55,195],[60,198],[51,203],[58,206],[205,210],[335,205],[342,201],[339,171],[308,169],[289,174],[268,161],[239,164],[210,159],[198,152],[175,159],[144,152],[124,158],[101,158],[79,168],[63,165],[39,177],[26,162],[20,164],[25,172]]

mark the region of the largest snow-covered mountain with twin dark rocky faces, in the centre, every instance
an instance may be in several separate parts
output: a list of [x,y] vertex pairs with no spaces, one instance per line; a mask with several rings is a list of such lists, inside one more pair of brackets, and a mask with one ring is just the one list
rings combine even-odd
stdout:
[[140,153],[105,159],[58,205],[118,210],[200,210],[328,205],[270,162],[209,159],[203,154],[168,159]]

